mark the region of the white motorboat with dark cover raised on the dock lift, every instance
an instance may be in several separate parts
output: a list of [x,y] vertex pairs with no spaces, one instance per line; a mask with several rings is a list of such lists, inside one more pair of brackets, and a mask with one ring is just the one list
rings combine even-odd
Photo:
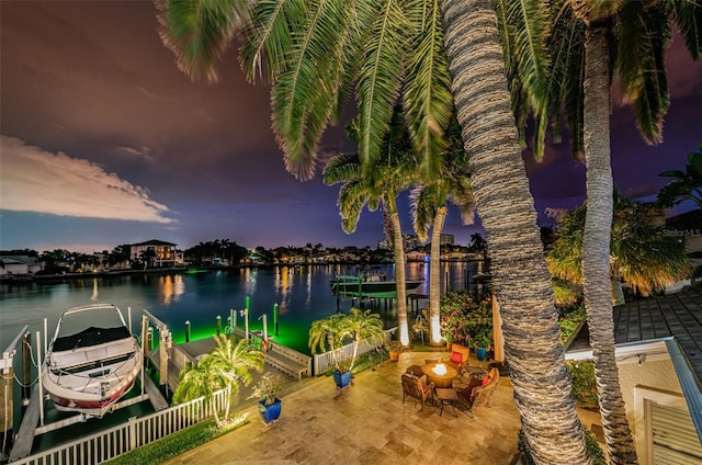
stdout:
[[100,418],[134,386],[143,363],[122,311],[111,304],[87,305],[59,318],[42,382],[58,410]]

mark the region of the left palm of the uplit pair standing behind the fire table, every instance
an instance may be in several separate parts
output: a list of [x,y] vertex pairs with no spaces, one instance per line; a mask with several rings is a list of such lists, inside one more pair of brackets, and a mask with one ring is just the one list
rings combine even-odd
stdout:
[[[355,122],[348,126],[348,133],[351,139],[358,138]],[[409,344],[405,248],[396,196],[414,180],[414,163],[408,157],[411,148],[407,140],[406,128],[399,121],[399,113],[396,112],[394,123],[381,148],[385,159],[377,159],[373,169],[364,171],[358,154],[339,155],[329,160],[322,173],[327,185],[342,183],[337,204],[342,218],[341,227],[347,234],[355,230],[364,206],[374,212],[382,205],[384,217],[387,216],[389,219],[395,252],[397,326],[399,340],[405,345]]]

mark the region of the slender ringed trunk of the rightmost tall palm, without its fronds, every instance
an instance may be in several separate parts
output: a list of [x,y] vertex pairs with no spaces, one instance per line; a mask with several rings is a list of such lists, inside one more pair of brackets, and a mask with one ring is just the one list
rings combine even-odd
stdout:
[[610,461],[612,464],[635,464],[636,449],[626,420],[614,359],[614,319],[610,295],[613,181],[610,161],[609,31],[609,23],[591,23],[585,46],[584,148],[588,199],[582,231],[582,291]]

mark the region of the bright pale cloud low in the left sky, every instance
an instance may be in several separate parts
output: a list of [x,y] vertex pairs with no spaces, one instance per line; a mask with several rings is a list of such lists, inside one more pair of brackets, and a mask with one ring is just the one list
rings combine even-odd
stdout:
[[174,223],[148,190],[66,154],[0,136],[0,208],[87,218]]

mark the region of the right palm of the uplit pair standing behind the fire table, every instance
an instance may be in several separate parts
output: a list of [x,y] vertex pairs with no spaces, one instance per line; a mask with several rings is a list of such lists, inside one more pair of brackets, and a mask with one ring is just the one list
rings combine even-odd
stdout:
[[461,208],[461,217],[466,225],[473,223],[475,209],[471,178],[464,171],[467,157],[455,120],[449,135],[451,145],[443,154],[440,174],[422,181],[410,192],[412,220],[419,240],[427,240],[427,231],[432,228],[429,263],[429,333],[432,344],[441,341],[441,231],[449,214],[448,203],[451,201]]

